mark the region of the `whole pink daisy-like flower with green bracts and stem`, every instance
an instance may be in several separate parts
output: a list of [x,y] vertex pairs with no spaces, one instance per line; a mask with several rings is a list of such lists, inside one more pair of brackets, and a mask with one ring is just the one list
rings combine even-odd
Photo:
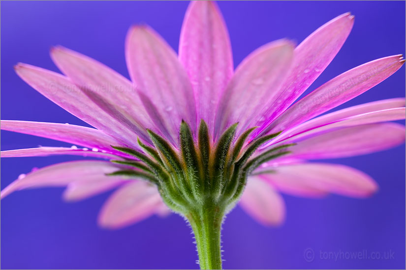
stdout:
[[[84,148],[2,151],[1,157],[79,155],[21,175],[1,198],[26,188],[66,186],[63,198],[117,189],[98,222],[120,228],[172,210],[189,221],[202,269],[221,268],[220,226],[236,203],[265,225],[284,218],[279,192],[366,197],[377,185],[357,169],[311,160],[372,153],[405,140],[405,99],[337,110],[405,62],[401,55],[355,67],[295,102],[342,47],[354,19],[343,14],[298,46],[268,43],[233,69],[228,32],[215,3],[192,2],[179,55],[151,28],[131,27],[125,57],[131,81],[63,47],[51,57],[64,75],[28,64],[16,73],[94,128],[2,120],[1,129]],[[293,104],[294,103],[294,104]],[[319,116],[323,114],[322,116]]]

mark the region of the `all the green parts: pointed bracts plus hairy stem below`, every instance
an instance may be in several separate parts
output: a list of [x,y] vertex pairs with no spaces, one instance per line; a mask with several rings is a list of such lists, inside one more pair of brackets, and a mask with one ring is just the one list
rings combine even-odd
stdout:
[[[221,223],[243,194],[247,178],[273,173],[257,168],[288,155],[289,147],[294,145],[264,147],[281,132],[252,138],[256,128],[253,127],[236,137],[237,126],[238,123],[230,125],[213,141],[213,133],[204,120],[200,121],[197,134],[182,120],[177,145],[147,129],[150,140],[137,138],[139,150],[112,146],[125,155],[123,160],[112,161],[118,170],[109,175],[141,179],[157,187],[163,202],[184,216],[192,227],[202,269],[221,268]],[[207,263],[211,261],[219,264]]]

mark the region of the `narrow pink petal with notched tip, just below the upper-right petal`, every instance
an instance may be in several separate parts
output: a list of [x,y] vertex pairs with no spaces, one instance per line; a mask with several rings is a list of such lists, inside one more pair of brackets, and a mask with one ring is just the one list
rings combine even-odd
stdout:
[[284,111],[267,131],[287,130],[353,99],[395,73],[405,62],[401,59],[380,58],[337,76]]

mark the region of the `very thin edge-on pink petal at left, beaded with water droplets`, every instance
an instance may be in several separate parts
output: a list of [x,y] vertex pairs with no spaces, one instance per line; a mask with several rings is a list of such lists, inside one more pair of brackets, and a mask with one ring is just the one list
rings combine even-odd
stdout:
[[[95,149],[93,149],[95,150]],[[46,157],[52,155],[74,155],[101,159],[117,159],[118,157],[109,153],[93,151],[87,148],[68,147],[38,147],[1,151],[1,158],[22,158],[22,157]]]

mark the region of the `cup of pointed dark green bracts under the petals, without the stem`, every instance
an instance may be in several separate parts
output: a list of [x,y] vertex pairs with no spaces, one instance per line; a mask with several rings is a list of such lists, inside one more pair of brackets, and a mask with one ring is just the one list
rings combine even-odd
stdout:
[[166,205],[173,211],[187,216],[209,205],[215,205],[222,213],[229,212],[243,193],[247,177],[264,162],[289,153],[293,144],[279,145],[251,158],[255,150],[281,132],[259,137],[245,145],[251,128],[234,138],[238,123],[230,126],[212,145],[206,123],[201,120],[197,141],[185,121],[180,126],[179,151],[163,137],[151,130],[148,134],[155,148],[138,139],[144,150],[140,151],[112,146],[134,156],[139,161],[114,160],[128,165],[109,175],[142,178],[155,184]]

